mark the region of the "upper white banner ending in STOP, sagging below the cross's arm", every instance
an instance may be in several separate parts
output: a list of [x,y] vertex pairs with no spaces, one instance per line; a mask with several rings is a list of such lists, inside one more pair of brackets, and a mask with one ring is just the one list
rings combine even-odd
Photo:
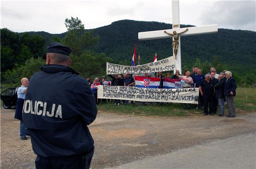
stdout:
[[160,61],[151,62],[145,65],[123,66],[107,62],[107,75],[113,74],[137,74],[137,73],[154,73],[176,70],[173,56]]

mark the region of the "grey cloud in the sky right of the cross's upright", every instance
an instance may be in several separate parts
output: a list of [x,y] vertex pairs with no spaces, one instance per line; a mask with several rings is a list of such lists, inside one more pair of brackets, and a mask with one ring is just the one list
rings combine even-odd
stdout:
[[202,11],[200,20],[218,27],[255,31],[256,1],[215,1],[211,11]]

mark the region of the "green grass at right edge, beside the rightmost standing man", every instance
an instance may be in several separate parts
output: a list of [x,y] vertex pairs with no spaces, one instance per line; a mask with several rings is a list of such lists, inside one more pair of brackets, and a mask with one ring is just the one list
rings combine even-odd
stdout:
[[236,93],[235,108],[256,110],[256,88],[237,88]]

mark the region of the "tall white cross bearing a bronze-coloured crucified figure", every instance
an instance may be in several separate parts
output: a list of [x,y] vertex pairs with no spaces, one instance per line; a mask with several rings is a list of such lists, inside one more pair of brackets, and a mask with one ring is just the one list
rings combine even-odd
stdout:
[[[173,33],[173,31],[176,31],[177,33],[179,33],[179,32],[184,31],[185,29],[188,29],[187,32],[184,32],[179,36],[202,35],[202,34],[218,32],[217,25],[180,28],[179,0],[172,0],[172,15],[173,15],[173,29],[149,31],[149,32],[139,32],[138,33],[139,40],[154,40],[154,39],[170,38],[170,35],[166,34],[164,31],[169,32],[169,33]],[[174,55],[175,54],[173,51],[173,57],[174,57]],[[181,72],[181,38],[179,38],[177,59],[174,59],[174,62],[176,64],[176,69],[179,70],[180,73],[182,74],[182,72]]]

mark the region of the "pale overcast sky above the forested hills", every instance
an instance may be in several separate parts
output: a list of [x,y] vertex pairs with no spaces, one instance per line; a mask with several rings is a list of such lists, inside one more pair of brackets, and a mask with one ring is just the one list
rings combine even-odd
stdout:
[[[171,0],[1,0],[1,28],[66,32],[65,18],[85,29],[131,19],[172,23]],[[256,31],[256,0],[180,0],[180,24]],[[171,28],[170,28],[171,29]]]

